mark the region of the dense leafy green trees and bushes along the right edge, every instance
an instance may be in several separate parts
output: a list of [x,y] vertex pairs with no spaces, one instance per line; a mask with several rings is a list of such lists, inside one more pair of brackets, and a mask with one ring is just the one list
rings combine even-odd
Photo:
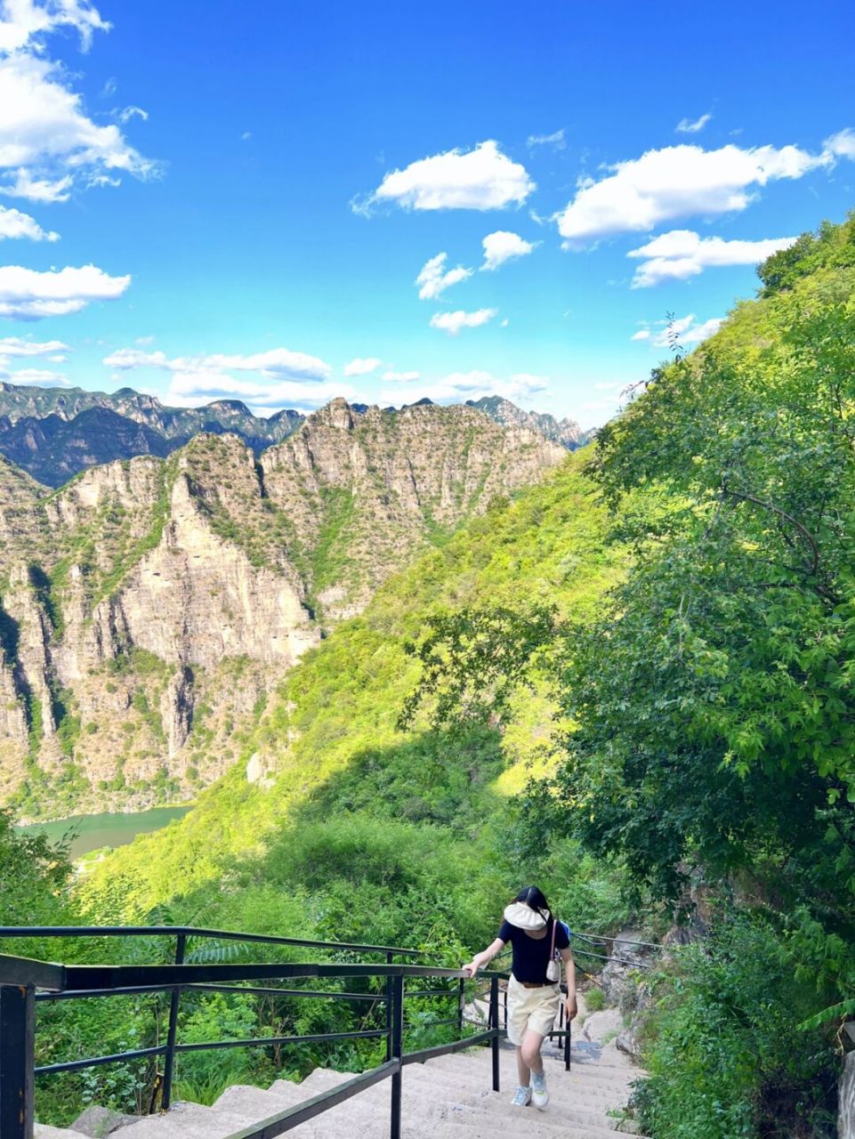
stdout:
[[657,991],[656,1139],[829,1134],[855,1014],[855,219],[759,276],[600,432],[589,472],[633,564],[595,620],[541,611],[509,649],[482,603],[434,628],[416,694],[465,722],[485,659],[549,661],[573,730],[540,831],[684,917],[706,899],[718,941]]

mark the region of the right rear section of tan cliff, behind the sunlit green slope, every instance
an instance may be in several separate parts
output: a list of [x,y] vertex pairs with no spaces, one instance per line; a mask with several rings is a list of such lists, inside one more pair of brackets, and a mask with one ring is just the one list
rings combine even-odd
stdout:
[[[564,448],[502,427],[468,407],[416,404],[357,412],[344,400],[306,420],[261,458],[270,498],[312,559],[309,589],[328,620],[357,613],[389,573],[438,530],[536,481]],[[342,551],[346,550],[346,558]]]

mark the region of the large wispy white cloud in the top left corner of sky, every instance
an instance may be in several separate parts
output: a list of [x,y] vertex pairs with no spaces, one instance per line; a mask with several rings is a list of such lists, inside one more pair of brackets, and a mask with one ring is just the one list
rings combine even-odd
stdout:
[[[75,185],[156,172],[116,123],[89,117],[72,73],[47,56],[44,36],[66,26],[84,48],[93,31],[109,27],[85,0],[0,0],[0,194],[64,202]],[[123,122],[145,117],[138,107],[122,114]]]

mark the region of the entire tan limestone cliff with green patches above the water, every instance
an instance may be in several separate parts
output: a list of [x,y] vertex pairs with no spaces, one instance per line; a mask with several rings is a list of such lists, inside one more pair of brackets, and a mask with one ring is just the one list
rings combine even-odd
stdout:
[[30,816],[190,796],[324,625],[565,456],[471,408],[336,400],[261,459],[199,435],[50,495],[0,466],[0,795]]

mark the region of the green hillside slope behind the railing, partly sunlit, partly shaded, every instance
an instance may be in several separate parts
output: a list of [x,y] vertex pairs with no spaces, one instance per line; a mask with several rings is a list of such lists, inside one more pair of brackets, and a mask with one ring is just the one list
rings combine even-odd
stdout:
[[[619,580],[624,554],[607,543],[603,508],[578,468],[570,459],[516,502],[496,498],[484,516],[390,579],[362,615],[339,624],[285,678],[240,744],[238,762],[203,793],[187,826],[139,838],[90,867],[75,895],[85,916],[421,944],[457,964],[494,932],[509,883],[536,868],[574,925],[626,920],[619,868],[568,851],[566,841],[549,851],[525,838],[513,796],[529,770],[549,762],[546,741],[557,727],[542,679],[533,675],[535,689],[520,695],[503,732],[491,723],[453,734],[435,732],[426,720],[406,731],[397,726],[418,675],[408,645],[427,616],[451,613],[485,590],[510,606],[521,573],[537,597],[590,617]],[[240,682],[239,674],[230,681]],[[143,951],[162,959],[165,947],[109,948],[112,959]],[[191,943],[191,953],[206,951]],[[258,958],[257,947],[250,956]],[[186,1008],[183,1039],[222,1036],[237,1025],[258,1035],[364,1027],[357,1008],[321,1001],[269,1002],[258,1015],[239,994],[188,994]],[[436,1002],[417,1003],[409,1046],[444,1039],[451,1030],[434,1022],[447,1015]],[[142,1046],[156,1039],[163,1016],[162,1003],[141,1000],[128,1039]],[[57,1021],[47,1035],[49,1058],[58,1058],[63,1029],[75,1033],[72,1049],[91,1050],[91,1025]],[[381,1047],[342,1046],[331,1058],[365,1066]],[[289,1050],[286,1072],[329,1059],[322,1046]],[[280,1074],[269,1051],[229,1054],[219,1064],[189,1056],[179,1087],[211,1098],[230,1082]],[[75,1074],[46,1081],[41,1117],[66,1122],[88,1096],[128,1107],[151,1093],[150,1070],[122,1067],[113,1082],[108,1076],[98,1070],[89,1084]]]

